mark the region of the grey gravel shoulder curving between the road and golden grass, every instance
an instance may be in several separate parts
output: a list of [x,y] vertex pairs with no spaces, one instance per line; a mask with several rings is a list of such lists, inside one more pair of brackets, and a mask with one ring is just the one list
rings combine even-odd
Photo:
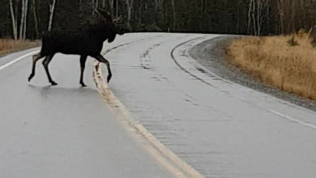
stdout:
[[199,64],[205,66],[208,70],[224,79],[316,111],[315,101],[268,86],[261,81],[252,78],[236,66],[229,64],[226,60],[229,56],[226,54],[225,48],[228,47],[234,39],[240,37],[241,36],[228,35],[213,38],[192,47],[189,50],[189,54],[196,59]]

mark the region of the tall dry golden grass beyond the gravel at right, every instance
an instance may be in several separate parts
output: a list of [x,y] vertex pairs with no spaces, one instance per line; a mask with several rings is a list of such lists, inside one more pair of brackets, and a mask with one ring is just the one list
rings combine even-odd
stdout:
[[316,100],[316,48],[307,36],[295,35],[296,46],[287,44],[292,35],[237,39],[228,60],[270,86]]

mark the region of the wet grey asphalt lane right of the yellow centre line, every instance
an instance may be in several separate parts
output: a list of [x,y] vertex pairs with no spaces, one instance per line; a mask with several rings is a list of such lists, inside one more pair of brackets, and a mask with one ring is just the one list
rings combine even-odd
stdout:
[[316,176],[316,113],[217,77],[190,57],[188,49],[218,35],[130,36],[150,39],[106,54],[110,88],[136,120],[202,175]]

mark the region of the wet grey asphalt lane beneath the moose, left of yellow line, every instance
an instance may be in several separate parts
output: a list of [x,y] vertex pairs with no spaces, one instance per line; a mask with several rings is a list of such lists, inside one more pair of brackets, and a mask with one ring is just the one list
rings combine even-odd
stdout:
[[[39,49],[39,48],[36,48]],[[0,58],[0,66],[34,49]],[[57,54],[47,81],[41,60],[29,83],[31,56],[0,70],[0,178],[172,178],[110,112],[88,58]]]

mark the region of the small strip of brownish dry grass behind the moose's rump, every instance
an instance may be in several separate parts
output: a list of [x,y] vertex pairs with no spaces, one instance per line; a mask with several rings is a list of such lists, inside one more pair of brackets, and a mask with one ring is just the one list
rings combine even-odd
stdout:
[[40,41],[15,41],[12,39],[0,39],[0,55],[13,52],[16,50],[27,49],[40,45]]

